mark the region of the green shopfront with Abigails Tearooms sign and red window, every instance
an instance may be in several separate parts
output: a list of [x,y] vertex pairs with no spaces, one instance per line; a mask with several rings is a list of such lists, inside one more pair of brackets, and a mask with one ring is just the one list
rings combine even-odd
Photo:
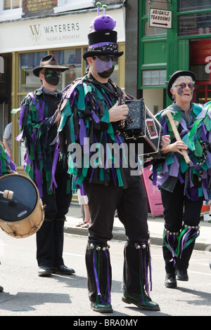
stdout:
[[196,103],[211,100],[210,0],[139,1],[138,95],[151,112],[167,107],[173,72],[191,70]]

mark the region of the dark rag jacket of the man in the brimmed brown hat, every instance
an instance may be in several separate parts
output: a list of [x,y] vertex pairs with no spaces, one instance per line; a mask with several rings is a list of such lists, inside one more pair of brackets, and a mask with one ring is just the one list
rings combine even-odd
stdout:
[[[56,91],[58,102],[62,93]],[[17,140],[25,140],[26,153],[23,168],[37,184],[40,197],[43,197],[42,184],[46,180],[48,194],[57,187],[55,180],[56,164],[59,156],[56,113],[49,109],[43,86],[29,93],[20,107],[20,135]],[[45,173],[45,176],[43,175]],[[44,179],[45,178],[45,179]]]

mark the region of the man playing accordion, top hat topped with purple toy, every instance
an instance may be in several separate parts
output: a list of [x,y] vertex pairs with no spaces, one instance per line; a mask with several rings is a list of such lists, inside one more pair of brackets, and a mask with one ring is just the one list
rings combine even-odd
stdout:
[[[127,105],[120,105],[120,99],[127,99],[127,95],[110,79],[123,52],[118,51],[113,18],[106,15],[106,19],[108,24],[98,16],[93,22],[94,31],[88,35],[89,49],[84,53],[84,60],[89,64],[88,73],[74,81],[63,97],[58,128],[60,150],[65,152],[63,143],[67,140],[69,171],[74,175],[72,189],[80,189],[89,199],[91,225],[86,265],[92,310],[113,312],[108,240],[113,237],[117,209],[128,237],[124,248],[122,301],[133,303],[141,310],[155,311],[160,308],[149,296],[150,247],[146,193],[141,177],[131,176],[129,166],[123,168],[124,148],[121,159],[117,154],[113,157],[112,152],[106,155],[109,145],[122,147],[123,140],[117,129],[128,113]],[[96,148],[101,152],[94,159]]]

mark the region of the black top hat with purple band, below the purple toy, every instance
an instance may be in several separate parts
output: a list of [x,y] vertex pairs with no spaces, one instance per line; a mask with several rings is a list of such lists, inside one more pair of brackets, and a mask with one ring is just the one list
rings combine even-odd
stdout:
[[83,54],[84,60],[97,55],[116,55],[120,57],[123,51],[118,50],[117,32],[105,29],[88,34],[89,48]]

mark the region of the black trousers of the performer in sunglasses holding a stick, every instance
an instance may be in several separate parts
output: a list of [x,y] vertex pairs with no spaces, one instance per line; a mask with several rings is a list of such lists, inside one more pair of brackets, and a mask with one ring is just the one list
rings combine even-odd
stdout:
[[[184,195],[184,184],[178,180],[173,192],[168,192],[160,188],[163,214],[165,219],[165,229],[171,233],[180,232],[182,223],[188,226],[198,226],[200,223],[200,210],[203,206],[203,197],[198,201],[192,202]],[[183,226],[184,227],[184,226]],[[193,241],[181,254],[181,258],[176,258],[176,269],[187,270],[189,260],[193,252],[195,241]],[[177,241],[173,243],[174,251],[177,249]],[[163,257],[165,260],[165,269],[169,273],[174,273],[174,263],[172,262],[172,253],[165,243],[162,246]],[[171,261],[170,261],[171,260]]]

